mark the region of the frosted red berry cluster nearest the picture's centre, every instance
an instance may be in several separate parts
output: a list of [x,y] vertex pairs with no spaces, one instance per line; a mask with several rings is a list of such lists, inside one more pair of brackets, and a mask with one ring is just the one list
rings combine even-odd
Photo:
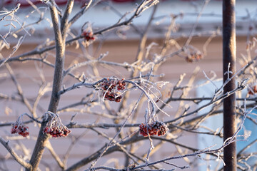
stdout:
[[124,79],[117,80],[115,78],[108,78],[107,81],[101,83],[101,88],[104,90],[104,100],[120,102],[122,96],[119,90],[124,90],[126,88],[126,83],[124,82]]

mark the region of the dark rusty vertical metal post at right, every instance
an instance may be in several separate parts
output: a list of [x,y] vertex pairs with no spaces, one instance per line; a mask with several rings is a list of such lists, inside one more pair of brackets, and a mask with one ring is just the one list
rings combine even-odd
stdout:
[[[236,73],[236,0],[223,0],[223,73],[229,71]],[[223,75],[223,82],[228,75]],[[224,93],[236,88],[235,78],[223,88]],[[236,94],[228,96],[223,100],[223,140],[233,136],[236,132]],[[224,148],[224,158],[226,166],[224,171],[236,171],[236,142],[231,143]]]

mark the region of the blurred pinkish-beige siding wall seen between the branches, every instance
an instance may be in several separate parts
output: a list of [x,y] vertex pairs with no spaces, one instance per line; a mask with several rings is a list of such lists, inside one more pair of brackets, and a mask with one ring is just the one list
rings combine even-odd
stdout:
[[[207,40],[207,38],[193,38],[192,45],[196,46],[200,50],[202,49],[203,43]],[[151,41],[154,41],[156,43],[161,44],[160,39],[152,39],[148,41],[148,43],[151,43]],[[183,42],[186,41],[186,39],[181,39],[178,41],[179,43],[183,44]],[[138,49],[138,41],[136,40],[130,40],[130,41],[106,41],[102,46],[101,50],[98,50],[99,43],[96,43],[96,45],[89,48],[89,53],[93,54],[94,52],[94,58],[97,58],[100,53],[106,53],[106,51],[109,51],[109,55],[106,56],[103,60],[106,61],[116,61],[116,62],[128,62],[133,63],[135,60],[135,56]],[[15,56],[24,53],[26,51],[29,51],[31,49],[34,49],[36,46],[34,44],[24,44],[19,48],[19,51],[15,53]],[[238,58],[241,53],[245,53],[245,47],[246,47],[246,37],[238,37],[237,38],[237,51],[238,51]],[[155,48],[151,53],[158,52],[160,49]],[[178,56],[174,56],[171,59],[168,59],[163,66],[158,70],[157,73],[165,73],[165,77],[161,80],[163,81],[171,81],[171,87],[178,81],[179,76],[182,73],[186,73],[186,78],[183,83],[187,83],[188,79],[191,76],[191,73],[193,73],[194,69],[199,66],[200,72],[198,76],[196,77],[196,81],[204,79],[203,73],[201,71],[205,71],[207,74],[210,71],[216,72],[218,77],[222,76],[222,48],[221,48],[221,37],[214,38],[213,41],[209,44],[207,48],[207,56],[203,58],[203,60],[197,62],[197,63],[186,63],[184,58],[180,58]],[[7,54],[9,54],[11,49],[2,51],[1,53],[5,57]],[[84,61],[84,56],[81,55],[82,52],[80,49],[76,49],[75,46],[70,46],[67,48],[66,51],[66,63],[65,68],[71,65],[71,63],[76,63],[78,61]],[[52,55],[52,56],[51,56]],[[76,61],[73,61],[74,58]],[[49,54],[49,57],[47,58],[49,61],[54,61],[54,51],[51,51],[51,54]],[[34,62],[34,61],[27,61],[27,62],[14,62],[11,63],[11,67],[14,69],[15,76],[17,78],[17,81],[20,83],[21,88],[24,92],[24,95],[26,98],[29,99],[30,103],[34,103],[35,99],[35,93],[39,91],[40,86],[40,77],[39,73],[36,71],[36,66],[41,68],[41,63]],[[239,68],[239,66],[238,66]],[[54,68],[50,66],[43,66],[42,67],[44,78],[46,81],[52,81]],[[78,70],[80,73],[84,72],[86,77],[90,78],[90,73],[92,73],[91,68],[88,66],[82,67]],[[76,71],[77,72],[77,71]],[[76,74],[74,72],[74,74]],[[99,74],[102,77],[109,77],[109,76],[119,76],[119,78],[128,78],[129,73],[127,73],[126,70],[123,68],[103,68],[99,66]],[[14,83],[10,80],[9,73],[7,73],[6,68],[2,66],[0,68],[0,93],[4,93],[6,95],[17,95],[16,87],[14,86]],[[76,83],[76,80],[74,78],[71,78],[67,76],[67,78],[64,80],[64,84],[66,87],[71,86],[72,84]],[[66,105],[69,105],[71,103],[76,103],[81,100],[81,98],[86,95],[86,93],[89,93],[89,90],[86,90],[86,88],[80,88],[79,90],[74,90],[69,93],[66,93],[61,98],[59,108],[63,108]],[[136,91],[132,91],[132,97],[129,100],[129,103],[132,103],[134,100],[136,100],[140,93]],[[49,98],[50,98],[51,92],[46,93],[43,98],[39,101],[39,109],[37,110],[38,115],[42,115],[48,108],[49,105]],[[196,92],[192,91],[189,93],[189,96],[196,96]],[[171,120],[174,118],[175,113],[177,112],[178,108],[176,108],[177,103],[172,103],[173,108],[165,108],[166,112],[170,114],[170,117],[167,117],[166,115],[160,114],[159,119],[160,120]],[[82,107],[83,108],[83,107]],[[85,106],[84,109],[87,107]],[[116,103],[111,103],[111,108],[117,108]],[[143,108],[146,108],[146,105],[143,105],[141,112],[139,113],[137,123],[142,123],[144,121],[144,110]],[[0,103],[0,120],[1,123],[5,122],[14,122],[16,118],[21,115],[21,113],[29,113],[29,111],[24,108],[24,105],[19,101],[11,102],[11,100],[5,99],[1,100]],[[9,109],[9,110],[8,110]],[[96,106],[95,110],[100,110],[99,107]],[[9,111],[9,112],[7,112]],[[74,111],[66,111],[64,113],[60,113],[61,120],[64,124],[69,123],[69,120],[71,119],[71,115],[74,115]],[[97,115],[91,115],[91,114],[81,114],[78,113],[76,118],[74,119],[75,122],[78,123],[94,123],[97,122],[99,117]],[[27,120],[26,116],[24,117],[24,120]],[[113,123],[114,120],[105,118],[104,120],[101,120],[101,122],[104,123]],[[11,135],[10,133],[11,127],[2,127],[0,129],[0,135],[2,138],[7,139],[9,138],[9,145],[11,147],[14,147],[14,149],[19,153],[22,154],[24,152],[28,152],[31,154],[31,150],[34,148],[35,139],[38,135],[39,129],[36,124],[29,124],[29,132],[30,136],[29,138],[21,138],[16,135]],[[101,132],[106,133],[110,135],[111,137],[114,136],[114,129],[110,128],[109,130],[105,129],[99,129]],[[76,142],[76,138],[79,136],[82,136],[82,138]],[[171,135],[172,136],[172,135]],[[69,145],[71,142],[76,142],[76,147],[73,147],[71,150],[70,158],[68,161],[68,165],[71,165],[72,163],[78,161],[82,157],[86,157],[91,155],[92,152],[95,152],[99,149],[104,143],[108,143],[109,140],[106,140],[104,138],[100,138],[96,133],[89,131],[87,129],[72,129],[71,135],[67,138],[51,138],[50,139],[51,145],[54,147],[54,150],[56,153],[62,158],[66,150],[69,148]],[[196,134],[193,133],[186,133],[186,135],[183,135],[182,138],[178,139],[178,142],[181,142],[183,145],[188,145],[190,147],[198,147],[197,137]],[[153,140],[154,145],[157,145],[158,140]],[[24,145],[23,151],[19,149],[19,145]],[[144,141],[143,144],[141,142],[136,143],[136,146],[138,146],[138,152],[146,153],[149,148],[149,142],[148,140]],[[157,149],[158,146],[156,146]],[[26,151],[26,150],[28,151]],[[176,152],[176,146],[172,145],[168,142],[163,145],[160,149],[158,149],[158,152],[154,154],[151,157],[151,161],[158,160],[163,157],[169,157],[172,155],[178,155]],[[111,160],[112,157],[117,157],[116,160]],[[0,158],[2,160],[6,160],[7,167],[9,170],[16,170],[19,168],[19,165],[16,164],[11,159],[11,156],[8,155],[8,152],[4,149],[2,145],[0,145]],[[107,155],[102,160],[99,160],[98,165],[106,165],[106,163],[116,163],[123,165],[124,163],[124,155],[121,154],[121,152],[114,152],[112,155]],[[190,160],[193,160],[193,158],[189,158]],[[41,168],[44,168],[46,166],[51,166],[51,170],[59,170],[55,169],[56,162],[51,157],[51,154],[49,150],[45,150],[44,162],[41,163]],[[176,165],[186,165],[185,160],[174,160],[171,161],[172,163],[176,163]],[[111,164],[114,165],[114,164]],[[0,165],[1,166],[1,165]],[[4,166],[1,166],[4,167]],[[85,168],[88,168],[89,165],[87,165]],[[45,169],[42,169],[45,170]],[[193,170],[192,168],[188,170]],[[194,170],[197,170],[196,168]]]

